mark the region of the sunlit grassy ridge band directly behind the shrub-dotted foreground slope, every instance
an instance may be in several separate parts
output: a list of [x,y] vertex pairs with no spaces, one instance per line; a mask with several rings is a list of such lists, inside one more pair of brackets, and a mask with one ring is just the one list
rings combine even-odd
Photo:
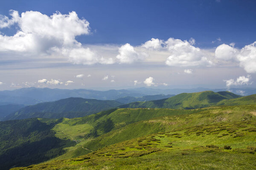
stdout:
[[[164,109],[155,110],[164,111]],[[85,141],[78,145],[76,149],[73,148],[72,151],[57,159],[74,158],[90,153],[90,150],[97,150],[110,144],[151,133],[174,130],[180,127],[211,124],[214,122],[256,120],[255,116],[253,116],[255,114],[254,111],[256,111],[256,105],[245,105],[195,109],[180,115],[176,115],[175,112],[167,113],[165,116],[162,115],[162,117],[155,115],[155,117],[151,117],[149,120],[143,120],[119,129],[114,129],[96,139]],[[90,150],[84,150],[82,146]]]

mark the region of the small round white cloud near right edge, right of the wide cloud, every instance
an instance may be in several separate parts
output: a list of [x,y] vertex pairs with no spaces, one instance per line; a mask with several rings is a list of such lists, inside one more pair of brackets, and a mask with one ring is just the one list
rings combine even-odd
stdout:
[[236,48],[227,44],[221,44],[215,50],[215,57],[218,59],[230,60],[236,57],[236,53]]

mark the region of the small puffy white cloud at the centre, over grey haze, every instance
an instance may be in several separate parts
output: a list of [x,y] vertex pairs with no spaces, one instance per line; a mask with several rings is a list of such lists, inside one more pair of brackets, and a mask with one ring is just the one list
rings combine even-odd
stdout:
[[116,56],[116,59],[119,60],[119,63],[132,63],[138,60],[144,59],[147,54],[145,53],[137,53],[134,50],[134,47],[130,44],[126,43],[119,48],[119,54]]

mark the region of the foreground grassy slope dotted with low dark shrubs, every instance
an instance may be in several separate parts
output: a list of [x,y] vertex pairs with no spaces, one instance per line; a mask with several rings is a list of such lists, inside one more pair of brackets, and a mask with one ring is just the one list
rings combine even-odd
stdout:
[[255,120],[217,122],[151,134],[29,169],[254,169],[255,141]]

